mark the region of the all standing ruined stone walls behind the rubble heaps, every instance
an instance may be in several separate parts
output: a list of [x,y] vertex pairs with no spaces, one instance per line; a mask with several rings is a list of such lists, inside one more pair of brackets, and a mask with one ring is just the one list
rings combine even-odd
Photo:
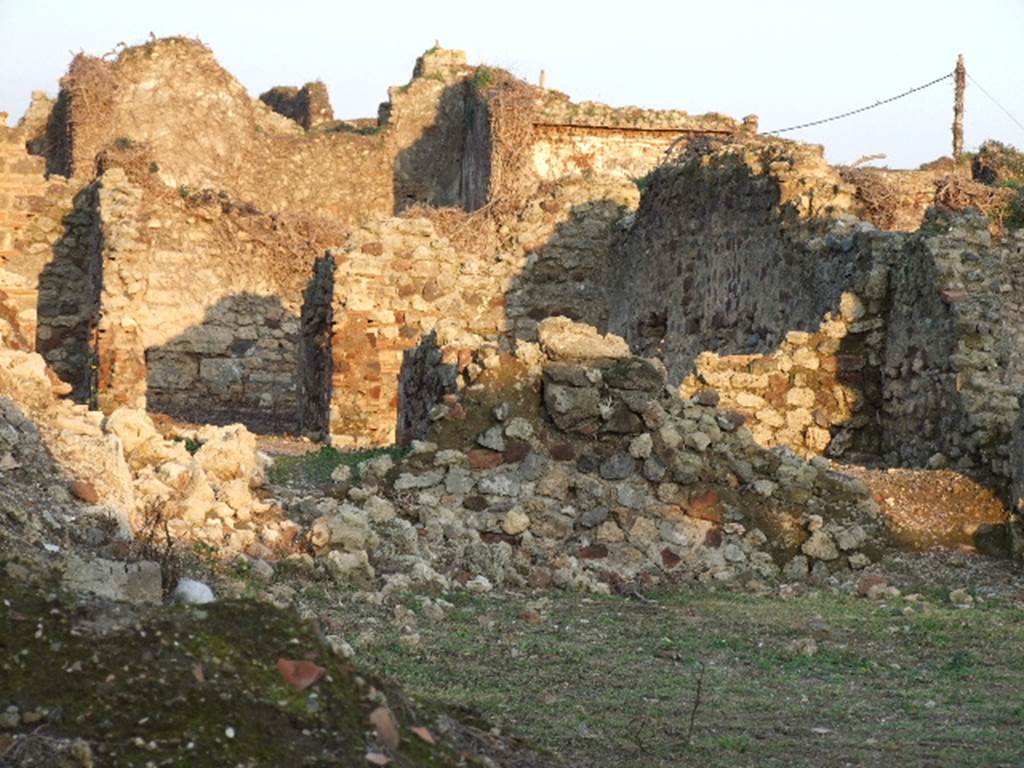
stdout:
[[0,134],[4,343],[108,413],[413,439],[564,316],[762,447],[1017,476],[1024,243],[955,170],[837,169],[439,48],[337,120],[184,38],[76,56]]

